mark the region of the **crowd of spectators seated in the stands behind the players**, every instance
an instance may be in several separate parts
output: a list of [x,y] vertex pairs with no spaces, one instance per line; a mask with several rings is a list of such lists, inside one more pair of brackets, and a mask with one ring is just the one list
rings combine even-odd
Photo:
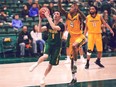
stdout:
[[[10,0],[9,0],[10,1]],[[46,3],[41,4],[39,0],[13,0],[14,3],[19,5],[23,4],[23,8],[20,13],[15,12],[13,14],[10,10],[10,7],[5,4],[7,0],[0,1],[0,27],[7,24],[9,27],[12,27],[13,31],[19,31],[17,43],[20,49],[20,56],[24,57],[25,50],[29,48],[30,53],[34,55],[43,54],[44,43],[47,39],[47,35],[37,31],[37,25],[33,25],[31,30],[28,30],[28,26],[24,24],[24,20],[32,18],[35,20],[39,15],[39,9],[43,6],[46,6],[50,10],[52,15],[56,9],[54,6],[57,6],[58,0],[43,0]],[[115,0],[62,0],[65,6],[68,8],[68,5],[71,2],[77,1],[79,8],[87,11],[90,5],[95,5],[98,7],[99,13],[103,16],[104,20],[112,27],[115,35],[114,37],[109,33],[108,29],[105,29],[105,25],[102,25],[102,35],[103,35],[103,51],[116,51],[116,1]],[[83,3],[84,2],[84,3]],[[2,4],[4,3],[4,4]],[[56,4],[54,4],[56,3]],[[85,14],[87,15],[88,12]],[[11,21],[9,21],[11,20]],[[47,21],[45,21],[47,22]],[[65,20],[63,21],[65,23]],[[38,38],[36,38],[38,37]],[[63,45],[65,47],[65,45]],[[33,55],[33,54],[32,54]]]

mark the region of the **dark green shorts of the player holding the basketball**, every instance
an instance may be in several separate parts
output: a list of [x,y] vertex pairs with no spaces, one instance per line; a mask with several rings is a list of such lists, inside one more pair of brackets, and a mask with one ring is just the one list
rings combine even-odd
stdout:
[[59,64],[59,59],[60,59],[60,52],[61,52],[61,47],[59,46],[54,46],[54,45],[49,45],[48,43],[45,44],[45,54],[48,54],[48,58],[50,60],[51,65],[58,65]]

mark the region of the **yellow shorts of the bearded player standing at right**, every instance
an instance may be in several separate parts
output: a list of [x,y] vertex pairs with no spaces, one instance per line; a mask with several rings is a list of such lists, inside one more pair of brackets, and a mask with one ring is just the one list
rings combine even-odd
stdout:
[[101,34],[88,34],[88,50],[93,51],[94,45],[96,45],[97,51],[102,52]]

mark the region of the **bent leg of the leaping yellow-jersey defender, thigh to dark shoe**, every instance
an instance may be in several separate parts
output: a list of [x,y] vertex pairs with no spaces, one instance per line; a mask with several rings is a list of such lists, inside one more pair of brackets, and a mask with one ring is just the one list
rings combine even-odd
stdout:
[[77,56],[79,48],[85,43],[84,35],[80,35],[72,45],[72,58],[71,58],[71,71],[72,71],[72,81],[69,85],[74,85],[77,82],[76,72],[77,72]]

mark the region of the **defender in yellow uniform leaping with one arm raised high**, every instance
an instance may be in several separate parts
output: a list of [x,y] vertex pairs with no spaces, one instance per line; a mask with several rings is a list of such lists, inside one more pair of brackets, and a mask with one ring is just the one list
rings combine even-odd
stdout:
[[81,20],[85,19],[85,15],[79,10],[77,3],[73,3],[70,7],[70,11],[67,13],[61,6],[61,0],[58,0],[58,8],[60,12],[66,17],[67,29],[70,34],[69,53],[71,55],[71,71],[72,81],[69,85],[76,83],[76,60],[79,48],[85,43],[85,36],[81,31]]

